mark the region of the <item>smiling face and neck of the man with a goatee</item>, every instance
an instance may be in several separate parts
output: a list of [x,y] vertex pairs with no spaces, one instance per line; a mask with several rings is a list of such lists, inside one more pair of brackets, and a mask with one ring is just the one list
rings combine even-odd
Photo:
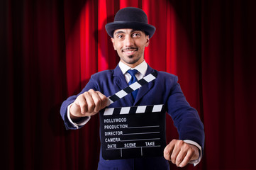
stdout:
[[118,29],[114,31],[111,40],[121,62],[133,68],[144,61],[144,50],[148,47],[150,38],[143,31]]

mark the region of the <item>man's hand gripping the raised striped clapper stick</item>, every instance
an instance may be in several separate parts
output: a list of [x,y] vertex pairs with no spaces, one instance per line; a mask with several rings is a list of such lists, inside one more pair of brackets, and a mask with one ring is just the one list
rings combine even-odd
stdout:
[[95,115],[102,108],[105,108],[107,103],[108,98],[104,94],[90,89],[77,96],[77,99],[72,103],[72,106],[70,106],[70,118],[75,120],[76,118]]

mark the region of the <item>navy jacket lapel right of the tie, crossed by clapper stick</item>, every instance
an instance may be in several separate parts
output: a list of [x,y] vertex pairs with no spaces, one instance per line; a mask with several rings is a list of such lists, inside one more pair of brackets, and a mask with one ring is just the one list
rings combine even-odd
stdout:
[[[155,72],[154,69],[152,69],[149,65],[148,65],[148,69],[147,72],[145,74],[145,76],[147,76],[148,74]],[[140,98],[143,98],[143,96],[145,96],[145,94],[147,94],[147,92],[152,89],[152,86],[155,84],[155,80],[151,81],[148,84],[145,84],[143,86],[140,87],[137,97],[135,98],[135,102],[134,102],[134,106],[136,106],[136,104],[138,103],[138,101],[140,101]]]

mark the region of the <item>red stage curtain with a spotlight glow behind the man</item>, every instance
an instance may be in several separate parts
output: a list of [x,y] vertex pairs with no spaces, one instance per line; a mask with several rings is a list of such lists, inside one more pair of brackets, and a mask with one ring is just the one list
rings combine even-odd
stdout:
[[[184,169],[256,169],[256,12],[239,0],[1,1],[1,167],[96,169],[98,115],[65,130],[59,110],[91,74],[116,67],[104,26],[126,6],[157,28],[146,62],[179,77],[204,122],[204,157]],[[167,118],[167,141],[177,137]]]

